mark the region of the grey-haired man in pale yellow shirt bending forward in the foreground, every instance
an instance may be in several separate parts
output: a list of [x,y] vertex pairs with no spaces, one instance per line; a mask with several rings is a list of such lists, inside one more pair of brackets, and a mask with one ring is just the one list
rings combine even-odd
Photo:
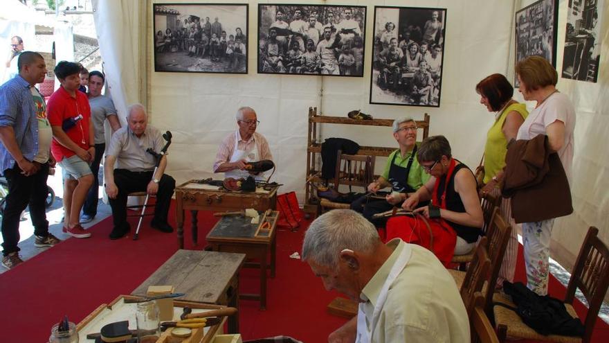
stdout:
[[386,245],[352,210],[329,211],[311,223],[302,260],[322,279],[359,302],[356,317],[328,342],[469,342],[469,319],[451,274],[424,247]]

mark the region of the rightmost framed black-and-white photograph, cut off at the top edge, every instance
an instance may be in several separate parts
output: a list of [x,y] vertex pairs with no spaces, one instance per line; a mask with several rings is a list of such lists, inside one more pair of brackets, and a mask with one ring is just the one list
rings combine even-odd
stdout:
[[597,82],[603,8],[603,0],[569,0],[563,78]]

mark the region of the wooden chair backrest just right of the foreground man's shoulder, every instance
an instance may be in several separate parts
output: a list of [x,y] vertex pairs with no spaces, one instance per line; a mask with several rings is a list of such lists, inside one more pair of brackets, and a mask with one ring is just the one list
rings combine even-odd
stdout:
[[475,248],[473,260],[467,269],[460,288],[461,299],[463,299],[465,310],[469,316],[471,316],[474,308],[475,292],[480,292],[482,290],[484,281],[487,281],[489,277],[490,268],[491,260],[487,253],[487,238],[482,237],[480,244]]

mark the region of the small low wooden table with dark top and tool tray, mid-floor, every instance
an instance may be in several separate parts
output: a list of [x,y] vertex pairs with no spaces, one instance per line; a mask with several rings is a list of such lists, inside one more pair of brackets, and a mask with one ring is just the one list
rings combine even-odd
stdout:
[[[260,294],[241,294],[241,299],[260,300],[260,309],[266,310],[266,269],[271,267],[271,277],[275,277],[275,227],[278,211],[271,211],[260,225],[269,222],[268,230],[259,229],[260,225],[251,224],[251,218],[244,216],[226,216],[222,218],[210,233],[207,241],[217,252],[239,252],[247,258],[255,258],[260,263],[245,263],[246,267],[260,268]],[[269,263],[269,252],[271,261]]]

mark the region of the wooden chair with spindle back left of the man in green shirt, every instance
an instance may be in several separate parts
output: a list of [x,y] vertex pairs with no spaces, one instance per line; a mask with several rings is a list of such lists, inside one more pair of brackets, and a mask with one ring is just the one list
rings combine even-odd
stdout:
[[[338,150],[336,155],[336,171],[334,173],[334,190],[339,192],[338,187],[343,184],[349,186],[366,187],[374,179],[374,156],[367,155],[347,155]],[[319,204],[321,211],[327,209],[349,209],[350,204],[332,202],[325,198],[320,198]]]

